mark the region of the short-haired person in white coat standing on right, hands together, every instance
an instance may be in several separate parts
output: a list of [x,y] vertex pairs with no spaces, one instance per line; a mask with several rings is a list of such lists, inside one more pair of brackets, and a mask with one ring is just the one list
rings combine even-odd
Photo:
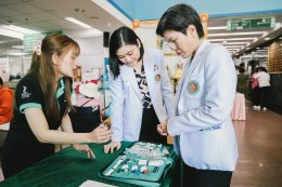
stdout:
[[184,162],[181,184],[227,187],[238,160],[230,119],[236,72],[230,53],[205,40],[200,16],[188,4],[169,8],[156,34],[188,58],[176,94],[176,117],[157,128],[162,135],[175,136],[175,150]]

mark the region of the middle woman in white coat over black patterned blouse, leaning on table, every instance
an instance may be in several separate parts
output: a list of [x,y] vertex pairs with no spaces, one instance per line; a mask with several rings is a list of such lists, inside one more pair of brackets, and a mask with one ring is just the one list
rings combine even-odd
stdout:
[[156,125],[172,115],[172,86],[161,51],[144,50],[139,37],[120,27],[110,39],[112,143],[104,151],[120,148],[121,141],[166,144]]

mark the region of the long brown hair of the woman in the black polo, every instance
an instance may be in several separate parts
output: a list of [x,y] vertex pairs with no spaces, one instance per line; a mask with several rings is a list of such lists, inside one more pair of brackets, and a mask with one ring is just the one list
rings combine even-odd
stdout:
[[[46,98],[43,112],[47,118],[52,118],[59,121],[60,111],[56,101],[56,90],[54,88],[54,83],[56,80],[56,69],[52,62],[52,55],[56,53],[59,56],[64,57],[67,52],[74,49],[76,55],[78,56],[80,53],[80,48],[76,41],[66,35],[49,35],[47,36],[41,43],[41,54],[37,54],[36,52],[33,55],[33,62],[30,66],[30,70],[27,75],[34,75],[39,80],[40,89]],[[64,115],[67,113],[68,109],[72,108],[70,102],[70,91],[72,91],[72,79],[65,79],[65,99],[66,99],[66,110]]]

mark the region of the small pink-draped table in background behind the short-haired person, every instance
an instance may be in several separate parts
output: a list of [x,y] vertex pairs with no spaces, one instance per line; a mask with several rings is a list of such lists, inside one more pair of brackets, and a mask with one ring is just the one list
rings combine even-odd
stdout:
[[246,120],[245,95],[242,93],[235,94],[231,120]]

